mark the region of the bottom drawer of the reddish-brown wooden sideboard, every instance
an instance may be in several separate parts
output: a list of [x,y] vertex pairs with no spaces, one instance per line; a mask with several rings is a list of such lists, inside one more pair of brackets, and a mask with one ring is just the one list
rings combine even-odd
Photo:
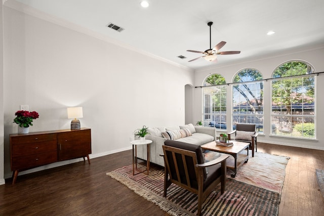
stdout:
[[36,166],[41,166],[49,163],[54,163],[57,161],[57,151],[39,153],[39,154],[29,154],[20,157],[12,158],[12,169],[27,169]]

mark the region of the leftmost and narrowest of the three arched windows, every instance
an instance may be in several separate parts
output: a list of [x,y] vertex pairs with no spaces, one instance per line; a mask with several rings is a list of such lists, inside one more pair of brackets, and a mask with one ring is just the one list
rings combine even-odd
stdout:
[[226,129],[226,81],[220,74],[205,79],[203,88],[203,124]]

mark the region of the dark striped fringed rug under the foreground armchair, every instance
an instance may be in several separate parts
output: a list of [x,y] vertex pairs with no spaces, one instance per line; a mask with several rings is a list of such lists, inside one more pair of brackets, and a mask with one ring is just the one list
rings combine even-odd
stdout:
[[[170,215],[196,215],[197,195],[172,184],[163,197],[164,170],[151,166],[149,175],[133,176],[132,165],[108,172],[107,176],[158,205]],[[202,215],[277,215],[280,194],[228,178],[226,191],[220,185],[203,204]]]

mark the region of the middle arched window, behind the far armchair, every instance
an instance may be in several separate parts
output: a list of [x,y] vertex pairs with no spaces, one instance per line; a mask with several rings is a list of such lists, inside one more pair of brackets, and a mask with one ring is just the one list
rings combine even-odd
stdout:
[[234,76],[232,125],[236,123],[256,124],[263,133],[263,81],[262,74],[253,68],[246,68]]

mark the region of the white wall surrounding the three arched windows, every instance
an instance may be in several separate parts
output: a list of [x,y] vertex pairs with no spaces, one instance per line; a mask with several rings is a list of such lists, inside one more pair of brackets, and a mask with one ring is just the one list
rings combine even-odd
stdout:
[[[213,73],[222,74],[227,83],[232,82],[234,75],[244,68],[256,68],[259,70],[263,78],[271,78],[273,70],[276,69],[277,66],[281,65],[282,63],[290,60],[303,60],[310,63],[315,72],[323,72],[324,71],[324,47],[316,48],[309,51],[289,54],[289,55],[282,55],[271,57],[268,59],[256,60],[241,64],[229,65],[225,67],[217,67],[215,65],[214,68],[208,70],[200,70],[195,72],[195,86],[203,85],[203,82],[207,76]],[[221,59],[219,59],[221,61]],[[324,107],[324,97],[321,94],[324,92],[324,74],[320,74],[316,76],[316,123],[317,123],[317,140],[316,141],[309,141],[308,139],[289,139],[289,138],[278,138],[269,136],[270,134],[270,83],[271,81],[264,82],[264,136],[258,136],[258,141],[271,143],[271,144],[281,144],[281,145],[289,145],[289,146],[298,146],[304,148],[313,148],[313,149],[321,149],[324,150],[324,134],[322,132],[322,128],[324,127],[324,113],[322,112],[322,107]],[[202,110],[202,92],[200,88],[195,88],[195,100],[199,101],[200,103],[195,104],[194,108],[194,119],[199,120],[201,119],[201,110]],[[231,96],[231,86],[229,85],[227,95]],[[231,110],[231,97],[227,97],[227,110]],[[227,113],[227,124],[231,124],[231,112]],[[228,131],[229,132],[229,131]]]

